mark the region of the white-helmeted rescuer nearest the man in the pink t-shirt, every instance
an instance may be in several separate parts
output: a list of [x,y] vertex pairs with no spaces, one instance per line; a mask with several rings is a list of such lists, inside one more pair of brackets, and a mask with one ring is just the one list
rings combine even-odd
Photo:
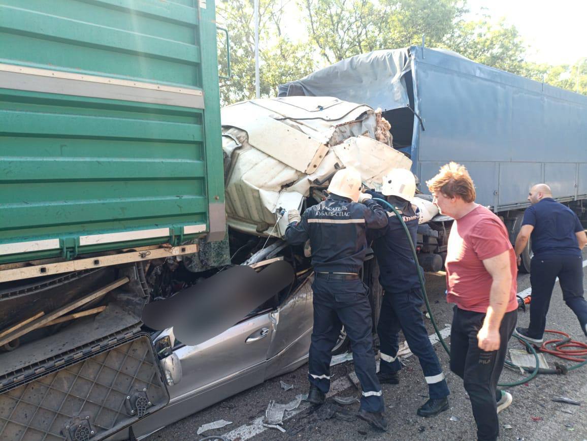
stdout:
[[[420,210],[410,201],[416,192],[416,180],[409,170],[394,169],[383,178],[382,193],[367,193],[392,204],[402,215],[411,240],[416,244]],[[421,307],[424,304],[420,280],[406,233],[397,216],[389,210],[389,224],[382,230],[367,231],[373,240],[373,252],[379,262],[379,282],[384,295],[377,324],[380,342],[379,381],[398,384],[402,368],[397,359],[399,331],[402,329],[411,352],[419,361],[428,384],[429,400],[420,406],[417,414],[434,416],[448,409],[448,386],[444,373],[432,348],[424,326]]]

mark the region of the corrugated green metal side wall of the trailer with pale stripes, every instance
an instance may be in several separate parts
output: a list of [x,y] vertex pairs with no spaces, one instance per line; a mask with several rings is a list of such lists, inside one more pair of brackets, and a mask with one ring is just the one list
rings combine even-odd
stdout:
[[0,262],[224,235],[216,38],[211,1],[0,0]]

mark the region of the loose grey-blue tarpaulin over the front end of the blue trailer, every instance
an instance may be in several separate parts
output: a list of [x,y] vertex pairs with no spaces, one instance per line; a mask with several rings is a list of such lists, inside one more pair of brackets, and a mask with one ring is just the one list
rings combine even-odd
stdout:
[[278,86],[278,96],[333,96],[382,110],[407,107],[408,48],[355,55],[300,80]]

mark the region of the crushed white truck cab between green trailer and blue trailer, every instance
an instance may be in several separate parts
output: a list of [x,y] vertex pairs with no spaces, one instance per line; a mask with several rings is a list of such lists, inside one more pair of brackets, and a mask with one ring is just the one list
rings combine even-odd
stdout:
[[[390,145],[380,113],[331,97],[259,99],[222,109],[227,223],[254,235],[282,237],[282,210],[301,210],[311,187],[326,188],[355,167],[379,188],[387,171],[411,161]],[[388,132],[389,133],[389,132]]]

